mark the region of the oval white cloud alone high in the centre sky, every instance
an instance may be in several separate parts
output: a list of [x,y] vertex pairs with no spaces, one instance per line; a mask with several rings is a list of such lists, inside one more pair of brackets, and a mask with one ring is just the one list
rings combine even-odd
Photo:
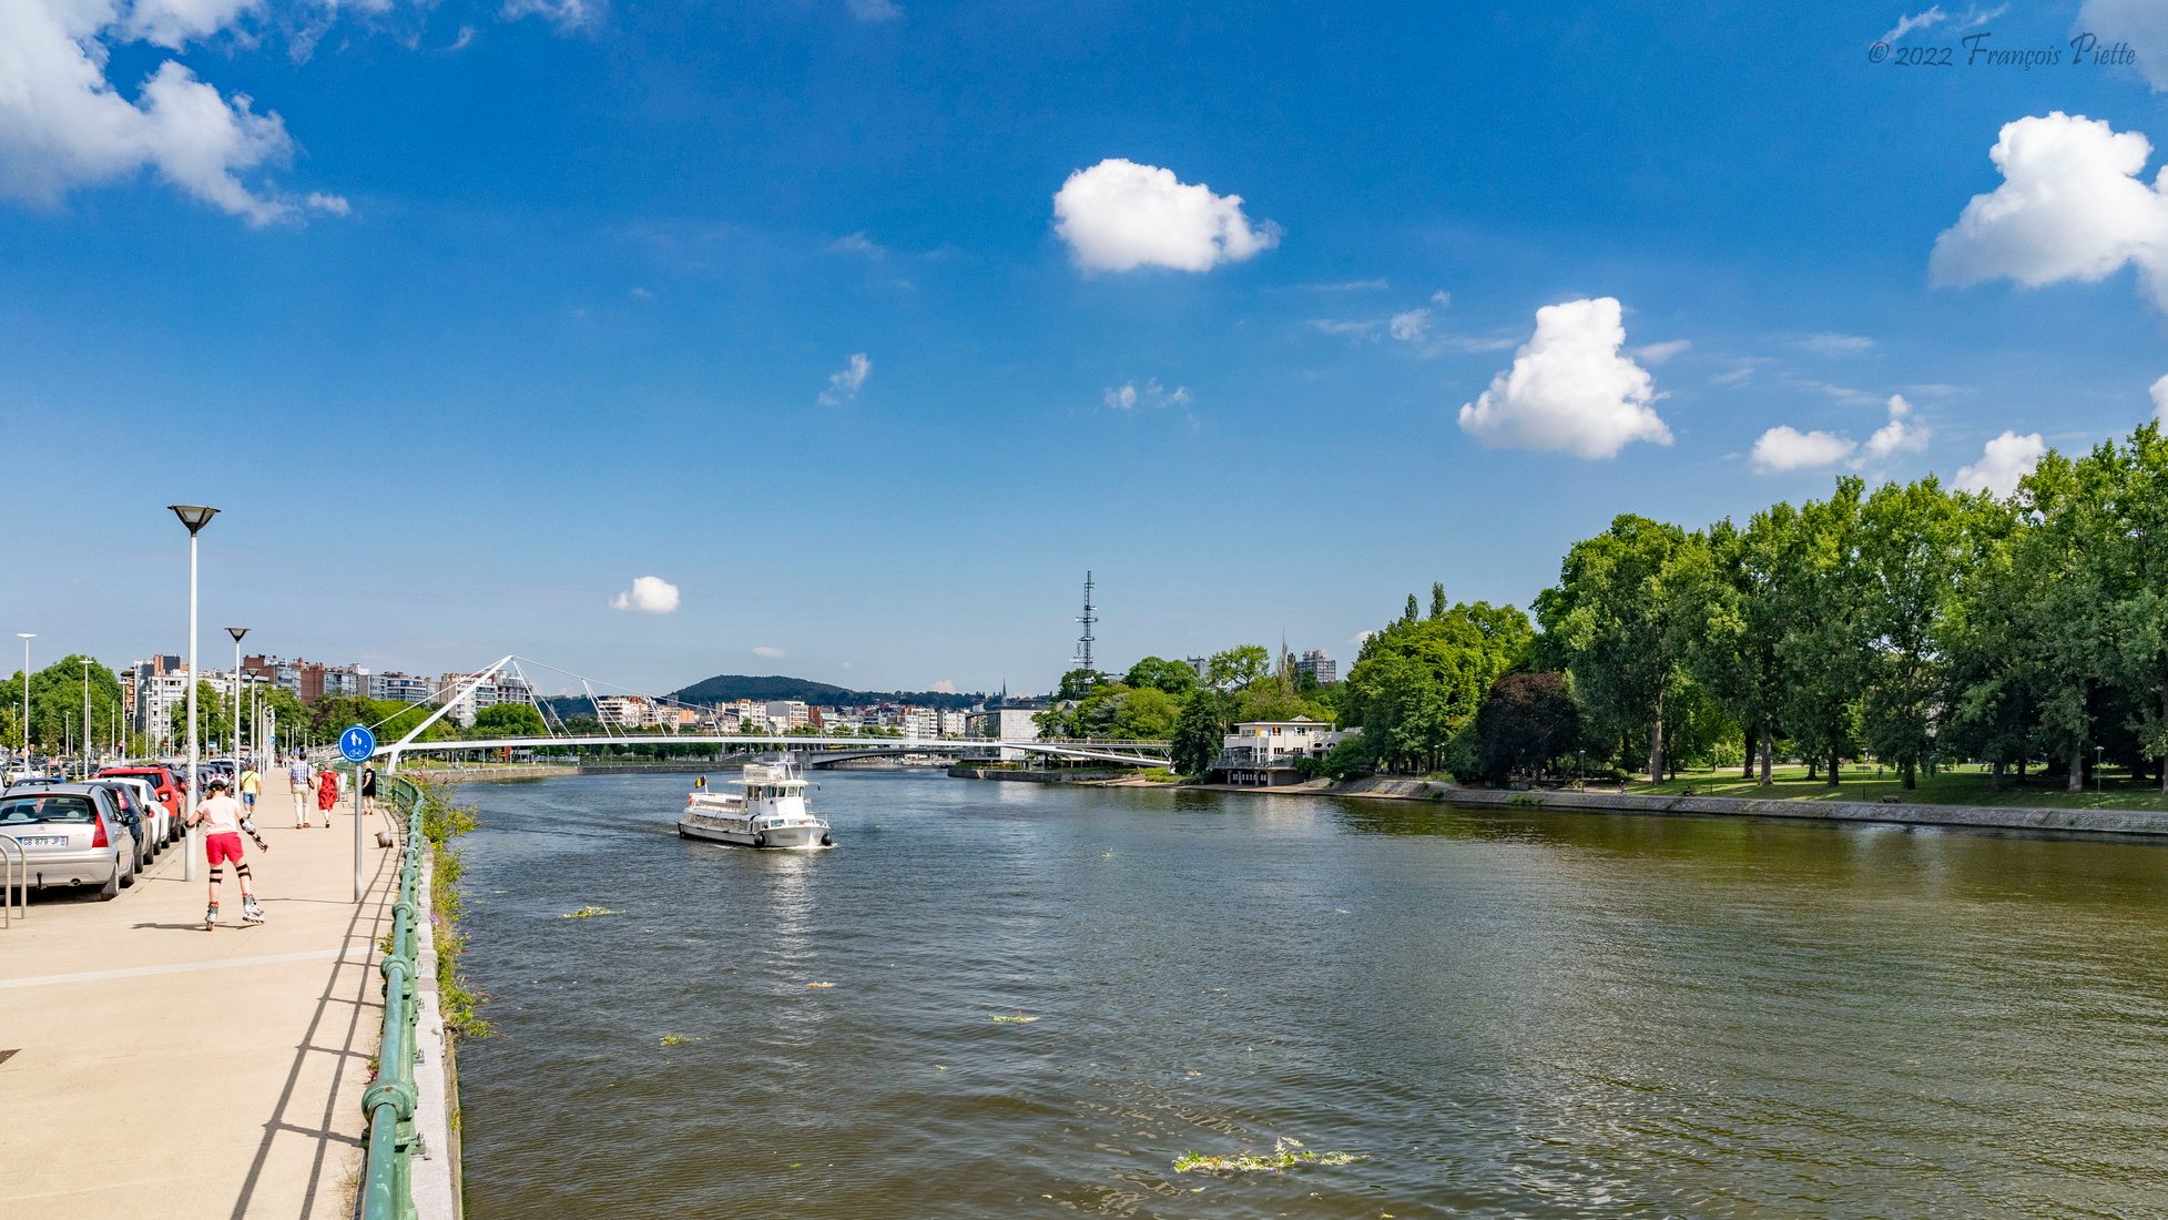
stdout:
[[1054,193],[1054,232],[1086,271],[1212,271],[1279,245],[1279,228],[1251,225],[1240,195],[1214,195],[1171,169],[1119,156],[1062,182]]

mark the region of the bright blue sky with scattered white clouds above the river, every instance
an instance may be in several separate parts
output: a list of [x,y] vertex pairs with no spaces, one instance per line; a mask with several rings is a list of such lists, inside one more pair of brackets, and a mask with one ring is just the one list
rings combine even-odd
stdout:
[[202,501],[282,654],[1043,689],[1086,568],[1106,661],[1353,657],[2153,416],[2159,4],[1427,9],[26,0],[0,628],[176,650]]

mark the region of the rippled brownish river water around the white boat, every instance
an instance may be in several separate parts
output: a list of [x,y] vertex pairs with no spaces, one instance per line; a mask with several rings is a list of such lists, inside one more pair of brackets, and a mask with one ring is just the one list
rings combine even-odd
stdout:
[[2168,1213],[2168,847],[820,782],[460,791],[470,1218]]

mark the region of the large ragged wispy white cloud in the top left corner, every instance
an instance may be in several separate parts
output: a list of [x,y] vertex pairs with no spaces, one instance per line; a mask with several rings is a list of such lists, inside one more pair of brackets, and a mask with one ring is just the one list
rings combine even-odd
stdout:
[[295,215],[243,176],[282,165],[293,141],[247,95],[221,95],[165,61],[121,95],[106,80],[111,48],[178,48],[238,20],[251,4],[156,0],[0,0],[0,193],[59,204],[76,186],[143,169],[197,199],[264,225]]

